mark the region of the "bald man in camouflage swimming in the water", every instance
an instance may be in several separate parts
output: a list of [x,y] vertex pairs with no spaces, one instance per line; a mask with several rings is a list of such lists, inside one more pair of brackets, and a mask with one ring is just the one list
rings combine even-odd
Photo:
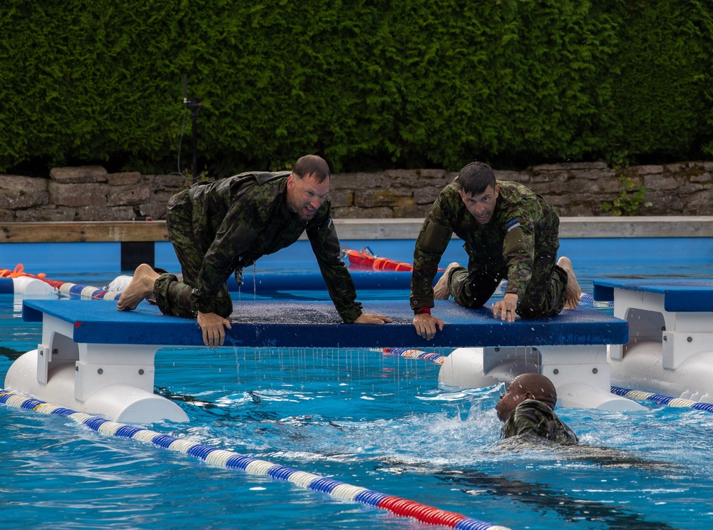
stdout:
[[502,438],[535,437],[563,445],[578,443],[577,435],[557,417],[557,390],[540,374],[520,374],[496,404]]

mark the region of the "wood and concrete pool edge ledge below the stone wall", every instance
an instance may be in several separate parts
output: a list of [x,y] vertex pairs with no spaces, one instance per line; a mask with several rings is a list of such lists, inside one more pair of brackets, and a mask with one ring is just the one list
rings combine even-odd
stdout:
[[[342,240],[416,239],[421,218],[335,219]],[[0,223],[1,243],[168,241],[165,221]],[[711,216],[563,217],[560,238],[712,238]],[[306,236],[302,235],[302,238]]]

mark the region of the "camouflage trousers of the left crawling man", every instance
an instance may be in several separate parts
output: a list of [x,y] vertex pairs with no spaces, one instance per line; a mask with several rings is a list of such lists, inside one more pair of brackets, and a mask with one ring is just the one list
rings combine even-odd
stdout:
[[[195,318],[197,312],[193,305],[193,292],[198,288],[198,274],[203,264],[203,253],[196,245],[193,235],[193,209],[188,199],[188,191],[173,195],[168,201],[166,213],[168,239],[173,243],[183,277],[170,274],[163,269],[155,269],[160,274],[153,286],[156,305],[164,315]],[[216,294],[217,314],[230,317],[232,299],[227,285],[223,284]]]

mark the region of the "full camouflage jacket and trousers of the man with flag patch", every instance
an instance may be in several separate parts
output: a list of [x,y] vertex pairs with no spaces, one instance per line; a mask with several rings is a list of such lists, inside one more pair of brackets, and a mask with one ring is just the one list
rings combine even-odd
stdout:
[[565,303],[567,273],[556,265],[560,220],[555,209],[525,186],[498,180],[490,222],[468,212],[456,183],[443,188],[421,226],[414,250],[411,308],[434,307],[433,280],[451,235],[463,240],[468,267],[451,271],[448,286],[464,307],[481,307],[501,280],[518,295],[523,318],[558,315]]

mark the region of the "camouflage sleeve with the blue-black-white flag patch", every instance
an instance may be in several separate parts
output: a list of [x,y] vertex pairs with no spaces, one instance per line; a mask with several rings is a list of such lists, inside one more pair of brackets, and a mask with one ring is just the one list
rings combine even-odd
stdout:
[[503,258],[508,264],[506,293],[513,292],[523,298],[533,275],[535,263],[535,226],[528,208],[518,208],[507,216]]

